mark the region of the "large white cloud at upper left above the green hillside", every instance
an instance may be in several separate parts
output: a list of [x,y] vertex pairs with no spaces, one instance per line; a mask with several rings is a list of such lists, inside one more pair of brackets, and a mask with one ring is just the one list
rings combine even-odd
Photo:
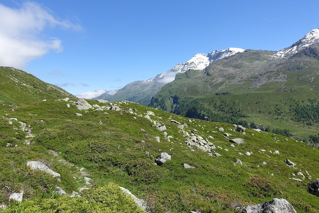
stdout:
[[81,29],[78,24],[55,17],[38,3],[26,2],[20,8],[0,4],[0,65],[24,68],[27,62],[51,50],[61,52],[63,47],[59,38],[41,36],[48,27]]

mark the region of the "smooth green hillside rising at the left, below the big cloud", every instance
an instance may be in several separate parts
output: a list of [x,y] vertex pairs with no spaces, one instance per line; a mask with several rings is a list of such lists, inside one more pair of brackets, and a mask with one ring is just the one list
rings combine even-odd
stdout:
[[0,67],[0,103],[26,104],[44,99],[74,97],[52,84],[13,67]]

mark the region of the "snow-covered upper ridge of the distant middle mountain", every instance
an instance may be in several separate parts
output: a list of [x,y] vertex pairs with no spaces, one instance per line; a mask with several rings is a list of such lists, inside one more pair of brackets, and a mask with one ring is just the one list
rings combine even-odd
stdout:
[[244,49],[241,48],[228,48],[223,50],[214,50],[211,53],[197,53],[195,56],[191,57],[188,61],[174,66],[172,69],[157,75],[155,78],[145,80],[147,84],[154,84],[155,81],[159,83],[169,83],[175,79],[177,73],[186,72],[189,69],[193,70],[203,70],[211,62],[222,59],[236,54],[237,52],[243,52]]

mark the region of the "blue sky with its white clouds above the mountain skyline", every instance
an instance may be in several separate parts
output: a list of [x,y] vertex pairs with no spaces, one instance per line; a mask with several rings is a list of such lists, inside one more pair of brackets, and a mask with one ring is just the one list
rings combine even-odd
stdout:
[[146,80],[196,53],[280,50],[319,27],[318,1],[0,2],[0,65],[74,95]]

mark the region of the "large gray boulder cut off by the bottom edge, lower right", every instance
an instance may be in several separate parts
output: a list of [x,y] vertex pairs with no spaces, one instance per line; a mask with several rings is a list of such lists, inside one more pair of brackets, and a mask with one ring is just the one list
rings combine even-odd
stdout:
[[239,209],[246,210],[247,213],[297,213],[288,201],[278,198],[254,206],[240,207]]

